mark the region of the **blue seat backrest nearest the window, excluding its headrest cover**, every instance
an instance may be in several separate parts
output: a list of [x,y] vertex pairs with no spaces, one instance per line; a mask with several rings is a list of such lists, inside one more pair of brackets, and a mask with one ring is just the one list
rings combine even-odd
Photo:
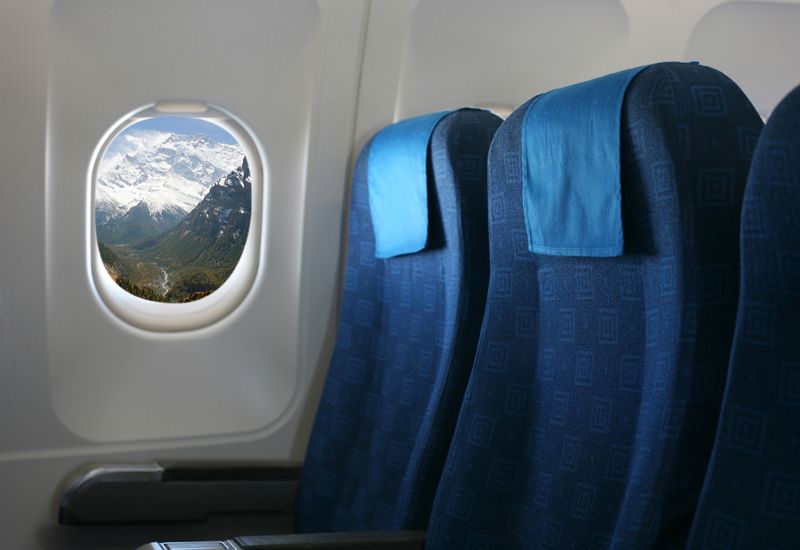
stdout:
[[377,136],[359,155],[342,311],[303,466],[298,532],[427,524],[483,317],[486,157],[500,123],[456,111],[423,143],[428,236],[412,254],[376,258],[368,176]]

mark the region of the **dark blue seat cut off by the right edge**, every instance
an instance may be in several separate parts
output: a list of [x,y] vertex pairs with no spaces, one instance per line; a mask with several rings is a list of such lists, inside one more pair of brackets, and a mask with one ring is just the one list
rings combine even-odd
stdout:
[[728,381],[690,548],[800,547],[800,87],[745,191]]

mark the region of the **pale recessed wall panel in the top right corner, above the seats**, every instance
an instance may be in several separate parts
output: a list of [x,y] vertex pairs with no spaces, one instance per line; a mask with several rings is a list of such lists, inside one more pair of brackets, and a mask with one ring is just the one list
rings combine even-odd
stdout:
[[694,28],[688,58],[711,65],[739,84],[766,117],[800,84],[800,4],[726,2]]

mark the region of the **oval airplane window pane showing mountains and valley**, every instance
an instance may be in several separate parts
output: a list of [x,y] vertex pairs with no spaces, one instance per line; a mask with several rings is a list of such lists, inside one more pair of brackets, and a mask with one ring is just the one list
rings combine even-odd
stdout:
[[175,115],[134,122],[108,143],[95,172],[102,263],[139,298],[203,299],[239,262],[251,203],[245,149],[222,126]]

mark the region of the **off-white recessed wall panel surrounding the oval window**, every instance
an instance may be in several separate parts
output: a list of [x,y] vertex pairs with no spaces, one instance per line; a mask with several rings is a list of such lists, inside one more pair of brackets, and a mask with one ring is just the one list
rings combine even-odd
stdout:
[[[59,419],[95,442],[274,428],[301,375],[316,3],[58,1],[51,33],[47,343]],[[175,98],[235,113],[263,153],[266,188],[252,291],[220,322],[169,334],[136,329],[103,306],[81,234],[93,215],[86,174],[98,141],[122,114]]]

